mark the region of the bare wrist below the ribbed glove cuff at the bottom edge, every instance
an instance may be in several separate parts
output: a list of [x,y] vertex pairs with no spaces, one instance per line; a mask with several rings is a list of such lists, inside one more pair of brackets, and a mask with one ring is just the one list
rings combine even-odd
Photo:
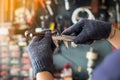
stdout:
[[43,71],[43,72],[37,73],[36,80],[54,80],[54,79],[50,72]]

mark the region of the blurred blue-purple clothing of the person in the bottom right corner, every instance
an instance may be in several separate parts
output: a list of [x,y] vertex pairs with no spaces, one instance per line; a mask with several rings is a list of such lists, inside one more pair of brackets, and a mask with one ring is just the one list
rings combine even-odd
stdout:
[[120,80],[120,50],[104,59],[93,71],[92,80]]

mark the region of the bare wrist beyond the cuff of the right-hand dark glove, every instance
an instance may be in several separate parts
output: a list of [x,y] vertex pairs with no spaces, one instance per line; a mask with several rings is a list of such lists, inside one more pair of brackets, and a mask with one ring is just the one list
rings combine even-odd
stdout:
[[[112,35],[112,36],[111,36]],[[120,48],[120,30],[114,27],[111,28],[111,33],[109,35],[108,41],[115,47]]]

